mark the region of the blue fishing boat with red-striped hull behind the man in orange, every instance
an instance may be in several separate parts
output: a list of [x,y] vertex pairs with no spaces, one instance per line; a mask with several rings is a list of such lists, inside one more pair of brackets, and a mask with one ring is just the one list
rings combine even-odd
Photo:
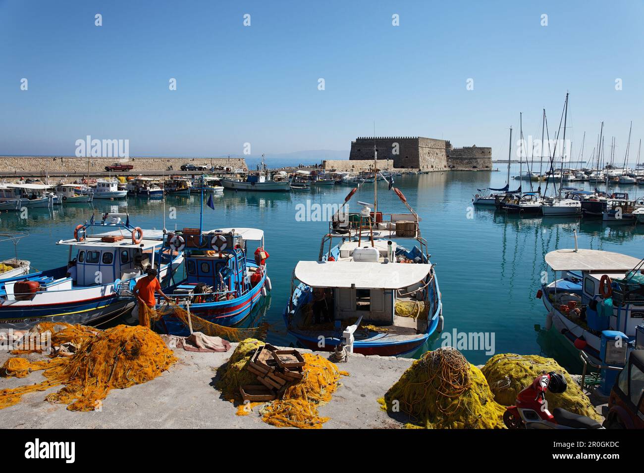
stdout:
[[[264,232],[258,228],[184,228],[169,233],[168,241],[176,251],[185,253],[186,277],[164,292],[192,315],[235,326],[270,291]],[[254,253],[250,242],[257,244]],[[185,325],[172,315],[164,315],[156,328],[173,335],[189,335]]]

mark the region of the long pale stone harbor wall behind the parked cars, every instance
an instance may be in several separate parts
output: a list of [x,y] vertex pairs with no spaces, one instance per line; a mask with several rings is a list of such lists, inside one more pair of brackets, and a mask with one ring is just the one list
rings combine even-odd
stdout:
[[[106,172],[105,167],[118,164],[131,164],[134,169],[131,174],[140,174],[146,171],[166,171],[169,166],[178,171],[182,164],[223,166],[233,169],[247,168],[243,158],[77,158],[76,156],[0,156],[0,174],[17,175],[26,173],[48,174],[86,174],[88,172]],[[117,171],[122,172],[122,171]],[[126,174],[125,172],[123,172]]]

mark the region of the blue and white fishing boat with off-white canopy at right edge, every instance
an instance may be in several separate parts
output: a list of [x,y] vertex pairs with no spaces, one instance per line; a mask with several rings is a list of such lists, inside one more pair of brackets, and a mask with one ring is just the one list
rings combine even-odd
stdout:
[[644,260],[575,248],[549,252],[545,263],[555,273],[537,292],[548,313],[546,329],[555,328],[594,362],[600,359],[601,331],[634,339],[644,317]]

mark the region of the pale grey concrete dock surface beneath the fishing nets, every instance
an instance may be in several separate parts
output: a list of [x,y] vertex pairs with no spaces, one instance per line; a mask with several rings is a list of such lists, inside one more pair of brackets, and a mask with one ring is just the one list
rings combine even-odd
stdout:
[[[276,428],[261,422],[256,412],[236,415],[236,407],[221,398],[214,388],[219,377],[216,368],[231,357],[237,344],[226,353],[194,353],[174,349],[179,358],[170,370],[150,382],[113,389],[102,402],[102,410],[71,412],[66,404],[52,404],[45,396],[60,389],[26,394],[21,402],[0,409],[0,425],[8,429],[164,429],[164,428]],[[308,351],[308,350],[303,350]],[[328,357],[328,352],[319,355]],[[0,353],[0,366],[13,355]],[[32,360],[42,355],[26,355]],[[378,398],[395,383],[413,360],[406,358],[365,357],[350,355],[348,362],[338,364],[348,371],[330,403],[319,409],[329,417],[325,429],[399,429],[406,419],[395,420],[380,409]],[[27,378],[0,378],[0,388],[35,384],[44,380],[41,371]]]

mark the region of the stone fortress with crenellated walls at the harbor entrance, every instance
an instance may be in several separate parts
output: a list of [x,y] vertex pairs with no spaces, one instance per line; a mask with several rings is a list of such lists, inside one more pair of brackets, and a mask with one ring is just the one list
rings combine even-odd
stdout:
[[327,161],[326,169],[361,171],[374,163],[374,146],[382,169],[421,171],[491,171],[491,147],[453,148],[448,140],[423,136],[359,136],[351,142],[349,161]]

